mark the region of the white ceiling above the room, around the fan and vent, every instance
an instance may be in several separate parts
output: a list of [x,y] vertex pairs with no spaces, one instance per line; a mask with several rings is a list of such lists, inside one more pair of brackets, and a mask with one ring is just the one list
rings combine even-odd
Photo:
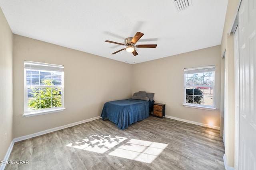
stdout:
[[[0,0],[12,32],[130,64],[220,45],[228,0],[192,0],[176,10],[174,0]],[[125,50],[136,32],[136,43],[157,44]],[[72,57],[72,56],[70,56]]]

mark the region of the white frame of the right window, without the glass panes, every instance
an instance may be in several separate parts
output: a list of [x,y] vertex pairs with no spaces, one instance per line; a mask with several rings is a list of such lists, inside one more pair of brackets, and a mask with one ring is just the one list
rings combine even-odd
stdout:
[[[213,85],[206,86],[206,85],[186,85],[186,78],[188,74],[199,74],[202,72],[214,72],[214,82]],[[207,87],[213,90],[212,100],[213,104],[211,105],[204,105],[204,104],[189,104],[186,103],[186,88],[197,88],[197,87]],[[194,67],[194,68],[185,68],[184,69],[184,102],[183,106],[185,107],[192,107],[198,109],[206,109],[206,110],[215,110],[215,65],[212,66],[202,66],[202,67]]]

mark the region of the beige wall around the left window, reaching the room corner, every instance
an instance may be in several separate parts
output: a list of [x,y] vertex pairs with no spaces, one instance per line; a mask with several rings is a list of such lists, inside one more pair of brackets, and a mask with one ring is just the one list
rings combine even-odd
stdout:
[[[14,138],[100,116],[107,101],[131,97],[132,65],[14,35]],[[24,117],[24,60],[64,65],[66,110]]]

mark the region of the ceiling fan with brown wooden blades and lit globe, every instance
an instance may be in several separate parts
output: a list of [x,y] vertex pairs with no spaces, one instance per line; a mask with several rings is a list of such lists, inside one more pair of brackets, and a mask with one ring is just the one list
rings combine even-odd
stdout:
[[[137,41],[139,41],[139,39],[144,35],[144,33],[141,32],[137,32],[134,37],[128,37],[126,39],[124,39],[125,44],[122,43],[117,43],[114,41],[108,41],[106,40],[105,42],[108,43],[114,43],[114,44],[118,44],[118,45],[125,45],[126,47],[123,49],[120,49],[112,54],[116,54],[120,51],[123,51],[124,49],[128,52],[128,53],[132,53],[134,56],[138,55],[137,51],[135,50],[135,48],[156,48],[156,44],[144,44],[144,45],[135,45],[137,43]],[[135,46],[134,46],[135,45]]]

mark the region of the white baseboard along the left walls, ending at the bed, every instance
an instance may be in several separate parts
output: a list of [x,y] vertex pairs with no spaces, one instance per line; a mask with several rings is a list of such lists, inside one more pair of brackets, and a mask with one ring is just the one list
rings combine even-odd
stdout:
[[[37,136],[40,136],[40,135],[44,135],[46,133],[58,131],[58,130],[61,130],[61,129],[65,129],[67,127],[72,127],[72,126],[79,125],[79,124],[82,124],[82,123],[86,123],[88,121],[96,120],[96,119],[99,119],[99,118],[100,118],[100,116],[97,116],[97,117],[93,117],[93,118],[86,119],[86,120],[83,120],[83,121],[78,121],[78,122],[75,122],[75,123],[70,123],[68,125],[64,125],[64,126],[60,126],[60,127],[55,127],[55,128],[48,129],[48,130],[45,130],[45,131],[40,131],[40,132],[33,133],[33,134],[30,134],[30,135],[14,138],[14,139],[12,139],[10,147],[8,148],[8,150],[7,150],[7,152],[6,152],[5,156],[4,156],[4,161],[8,160],[8,158],[10,156],[10,153],[12,152],[12,147],[13,147],[15,142],[23,141],[25,139],[29,139],[29,138],[32,138],[32,137],[37,137]],[[5,164],[2,164],[0,166],[0,170],[4,170],[4,168],[5,168]]]

